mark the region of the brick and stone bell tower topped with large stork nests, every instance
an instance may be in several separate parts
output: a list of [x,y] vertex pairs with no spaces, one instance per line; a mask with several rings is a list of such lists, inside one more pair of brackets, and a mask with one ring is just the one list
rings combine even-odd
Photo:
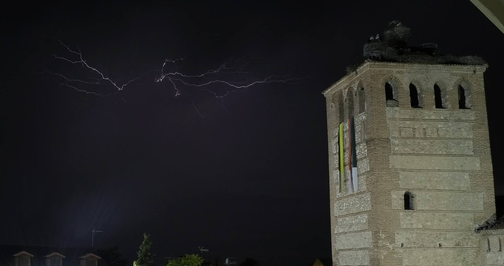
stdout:
[[323,92],[333,264],[486,265],[486,239],[475,229],[495,214],[487,64],[439,55],[435,44],[408,46],[409,36],[409,28],[392,22],[383,37],[365,44],[367,59]]

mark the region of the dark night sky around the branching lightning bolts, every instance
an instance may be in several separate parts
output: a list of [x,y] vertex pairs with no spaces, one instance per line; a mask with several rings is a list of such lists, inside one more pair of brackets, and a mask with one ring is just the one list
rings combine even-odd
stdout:
[[[3,9],[0,244],[88,246],[96,227],[104,231],[97,246],[119,245],[130,261],[143,232],[160,262],[199,245],[212,257],[266,266],[330,257],[321,92],[364,59],[367,38],[392,20],[412,28],[412,45],[435,42],[488,62],[496,194],[504,193],[495,156],[503,148],[504,34],[468,0],[73,5]],[[54,39],[79,46],[119,83],[144,75],[108,97],[59,86],[33,73],[87,72],[51,60],[68,55]],[[243,57],[249,78],[305,79],[259,83],[224,102],[190,86],[174,97],[169,82],[154,79],[165,58],[184,56],[179,70],[188,74]]]

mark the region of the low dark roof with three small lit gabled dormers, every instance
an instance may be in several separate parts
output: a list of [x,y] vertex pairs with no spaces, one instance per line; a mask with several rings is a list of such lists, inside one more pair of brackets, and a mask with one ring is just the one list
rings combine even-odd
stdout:
[[0,266],[108,266],[93,249],[0,246]]

